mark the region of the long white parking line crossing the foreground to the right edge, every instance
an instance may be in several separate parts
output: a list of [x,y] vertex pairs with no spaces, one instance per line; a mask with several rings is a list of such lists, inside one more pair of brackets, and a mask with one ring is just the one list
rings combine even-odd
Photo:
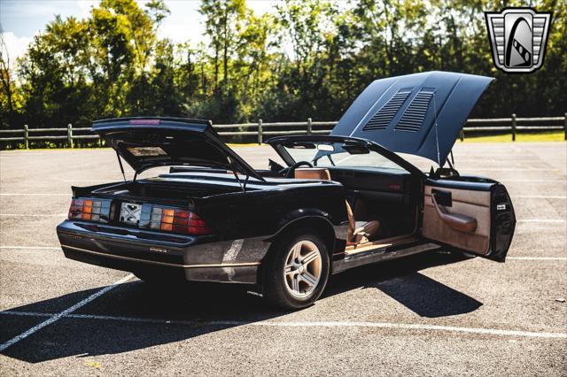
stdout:
[[[50,314],[41,312],[0,312],[4,315],[15,316],[32,316],[32,317],[47,317]],[[97,320],[118,320],[124,322],[139,322],[159,325],[186,325],[186,326],[220,326],[220,327],[234,327],[234,326],[253,326],[253,327],[375,327],[375,328],[392,328],[402,330],[424,330],[431,332],[453,332],[453,333],[467,333],[478,335],[497,335],[497,336],[523,336],[531,338],[567,338],[567,333],[555,332],[535,332],[523,330],[504,330],[498,328],[482,328],[482,327],[455,327],[455,326],[440,326],[440,325],[426,325],[419,323],[391,323],[391,322],[355,322],[355,321],[299,321],[299,322],[284,322],[284,321],[259,321],[247,322],[243,320],[167,320],[167,319],[145,319],[135,317],[116,317],[106,315],[92,315],[92,314],[66,314],[62,317],[72,319],[97,319]],[[49,320],[49,319],[48,319]],[[1,351],[2,349],[0,349]]]

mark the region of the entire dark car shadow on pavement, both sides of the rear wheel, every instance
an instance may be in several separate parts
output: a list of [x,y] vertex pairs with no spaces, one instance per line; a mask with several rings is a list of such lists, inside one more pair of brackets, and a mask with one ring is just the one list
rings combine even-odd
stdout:
[[[354,288],[380,289],[423,317],[442,317],[476,310],[481,303],[417,271],[463,260],[450,254],[425,253],[378,265],[359,267],[330,280],[324,297]],[[45,312],[58,301],[79,302],[99,289],[89,289],[13,308],[11,312]],[[274,311],[242,287],[196,284],[163,289],[142,281],[120,285],[73,314],[113,316],[132,320],[62,318],[15,343],[2,354],[30,363],[71,356],[97,356],[178,342],[273,319]],[[26,331],[48,317],[1,315],[0,342]],[[136,319],[168,319],[148,323]],[[183,323],[175,323],[175,321]]]

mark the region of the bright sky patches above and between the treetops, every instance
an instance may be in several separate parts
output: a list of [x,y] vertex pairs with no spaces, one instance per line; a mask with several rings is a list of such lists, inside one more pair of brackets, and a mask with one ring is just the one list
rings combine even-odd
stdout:
[[[144,5],[147,0],[136,0]],[[22,56],[33,36],[43,31],[45,25],[55,19],[89,16],[90,8],[97,0],[0,0],[0,26],[11,60]],[[200,0],[166,0],[171,14],[159,26],[159,37],[174,42],[200,42],[203,40],[203,18],[198,13]],[[270,12],[277,0],[247,0],[246,5],[256,14]]]

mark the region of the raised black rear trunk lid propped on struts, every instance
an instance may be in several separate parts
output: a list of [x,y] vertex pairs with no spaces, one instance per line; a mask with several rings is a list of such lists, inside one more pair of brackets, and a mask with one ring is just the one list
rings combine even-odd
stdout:
[[95,121],[92,130],[136,173],[157,166],[191,165],[233,170],[264,181],[252,166],[221,142],[206,120],[104,119]]

